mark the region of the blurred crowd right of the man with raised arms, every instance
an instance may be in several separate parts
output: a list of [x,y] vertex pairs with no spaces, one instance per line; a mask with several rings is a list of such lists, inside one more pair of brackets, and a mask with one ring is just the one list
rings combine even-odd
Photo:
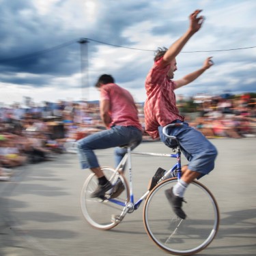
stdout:
[[[178,100],[180,111],[184,111],[186,102]],[[188,113],[183,113],[197,130],[208,138],[242,138],[255,137],[256,108],[255,98],[249,94],[231,97],[224,96],[195,96],[193,104],[197,115],[191,119]]]

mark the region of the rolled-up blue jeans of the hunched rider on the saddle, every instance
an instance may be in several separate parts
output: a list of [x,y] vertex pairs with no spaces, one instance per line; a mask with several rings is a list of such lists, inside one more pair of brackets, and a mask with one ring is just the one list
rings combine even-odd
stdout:
[[119,164],[126,148],[120,146],[132,143],[132,150],[142,141],[142,132],[134,126],[113,126],[109,130],[96,132],[77,142],[79,160],[82,169],[100,167],[94,150],[104,150],[110,147],[115,148],[115,166]]

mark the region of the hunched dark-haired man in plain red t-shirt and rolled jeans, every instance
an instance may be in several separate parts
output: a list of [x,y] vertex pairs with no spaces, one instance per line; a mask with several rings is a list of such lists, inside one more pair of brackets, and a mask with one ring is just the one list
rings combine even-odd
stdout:
[[102,74],[96,87],[100,90],[100,117],[106,130],[91,134],[77,142],[81,168],[91,169],[98,177],[98,188],[91,197],[101,197],[112,188],[111,182],[106,180],[100,169],[94,150],[116,147],[115,162],[118,165],[126,153],[120,146],[132,144],[134,149],[141,143],[143,132],[137,107],[129,91],[116,85],[109,74]]

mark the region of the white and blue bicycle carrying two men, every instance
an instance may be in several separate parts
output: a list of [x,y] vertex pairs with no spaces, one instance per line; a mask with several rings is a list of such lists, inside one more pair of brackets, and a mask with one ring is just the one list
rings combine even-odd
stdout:
[[[163,128],[163,133],[177,141],[176,137],[169,136],[166,130],[171,126],[180,125],[182,123],[169,124]],[[173,147],[175,154],[131,153],[130,145],[126,147],[127,153],[116,169],[102,167],[102,171],[113,184],[113,188],[107,191],[104,197],[98,199],[90,197],[98,186],[98,179],[94,173],[85,180],[81,190],[81,210],[87,222],[98,229],[112,229],[122,222],[126,214],[137,210],[145,200],[143,223],[148,236],[156,245],[175,255],[193,255],[206,248],[214,240],[220,220],[218,205],[210,190],[198,181],[190,183],[185,193],[188,203],[182,206],[187,214],[186,220],[178,218],[173,213],[165,196],[165,190],[174,186],[182,176],[181,150],[178,141]],[[134,202],[132,188],[131,154],[176,158],[175,165],[169,171],[160,176],[158,176],[159,171],[156,172],[149,188],[137,202]],[[129,182],[124,176],[126,162],[128,162]],[[177,172],[177,177],[170,177],[173,171]],[[120,187],[120,184],[123,192],[118,195],[115,188]]]

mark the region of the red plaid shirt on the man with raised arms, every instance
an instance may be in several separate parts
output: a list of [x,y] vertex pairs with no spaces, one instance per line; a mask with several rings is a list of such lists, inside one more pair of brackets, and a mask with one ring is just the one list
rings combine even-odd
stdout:
[[159,137],[158,126],[166,126],[176,119],[184,121],[184,116],[179,115],[176,106],[175,83],[167,76],[170,66],[160,68],[161,60],[154,63],[145,81],[147,91],[144,105],[145,131],[153,139]]

